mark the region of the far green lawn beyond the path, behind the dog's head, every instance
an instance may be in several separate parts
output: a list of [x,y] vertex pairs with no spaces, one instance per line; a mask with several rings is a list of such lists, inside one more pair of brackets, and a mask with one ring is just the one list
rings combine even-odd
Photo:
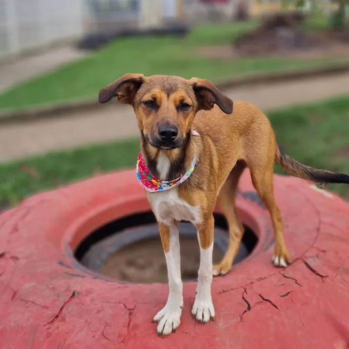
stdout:
[[[242,32],[257,25],[220,23],[194,26],[184,38],[142,37],[116,40],[102,50],[78,61],[35,77],[0,94],[0,111],[20,109],[51,102],[97,98],[100,88],[133,72],[197,76],[216,81],[245,73],[314,67],[332,59],[241,58],[209,59],[197,53],[196,47],[228,44]],[[310,25],[307,29],[312,29]]]

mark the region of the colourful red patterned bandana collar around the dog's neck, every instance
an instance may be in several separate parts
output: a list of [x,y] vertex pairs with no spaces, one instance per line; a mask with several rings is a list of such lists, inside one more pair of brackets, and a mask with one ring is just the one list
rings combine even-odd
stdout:
[[[191,133],[194,136],[198,136],[198,133],[196,131],[191,131]],[[195,160],[196,156],[194,156],[194,159],[191,165],[189,166],[189,169],[184,174],[181,174],[179,177],[173,180],[161,180],[151,173],[151,171],[148,169],[146,162],[143,159],[142,153],[140,152],[140,154],[138,155],[136,165],[136,174],[138,182],[143,186],[144,189],[151,192],[171,189],[174,186],[183,183],[185,179],[189,178],[190,174],[192,174],[192,172],[194,171]]]

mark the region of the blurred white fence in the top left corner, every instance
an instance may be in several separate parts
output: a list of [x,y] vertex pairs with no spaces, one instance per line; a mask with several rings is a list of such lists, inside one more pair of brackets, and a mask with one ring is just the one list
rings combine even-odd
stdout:
[[0,57],[83,32],[84,0],[0,0]]

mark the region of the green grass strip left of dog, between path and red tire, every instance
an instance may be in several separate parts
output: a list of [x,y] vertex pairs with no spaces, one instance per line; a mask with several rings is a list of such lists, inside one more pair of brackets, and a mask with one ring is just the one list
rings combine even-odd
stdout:
[[0,206],[100,172],[136,166],[138,139],[54,152],[0,165]]

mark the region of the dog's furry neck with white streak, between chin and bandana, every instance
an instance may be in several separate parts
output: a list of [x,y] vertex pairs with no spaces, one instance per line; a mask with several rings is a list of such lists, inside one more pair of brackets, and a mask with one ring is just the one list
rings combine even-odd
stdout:
[[193,136],[189,131],[183,145],[173,150],[152,147],[141,131],[141,152],[148,169],[161,180],[173,180],[184,174],[195,157]]

